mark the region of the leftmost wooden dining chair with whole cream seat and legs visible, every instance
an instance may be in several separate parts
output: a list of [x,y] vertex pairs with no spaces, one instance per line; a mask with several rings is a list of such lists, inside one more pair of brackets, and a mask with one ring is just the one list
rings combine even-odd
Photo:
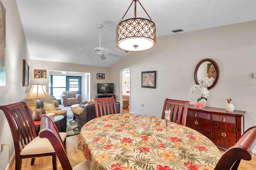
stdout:
[[[28,105],[23,101],[10,105],[0,106],[4,112],[14,142],[15,170],[20,170],[22,159],[32,158],[31,166],[36,157],[52,156],[52,169],[57,169],[56,152],[47,139],[36,136],[34,119]],[[66,144],[65,132],[61,132],[61,139]]]

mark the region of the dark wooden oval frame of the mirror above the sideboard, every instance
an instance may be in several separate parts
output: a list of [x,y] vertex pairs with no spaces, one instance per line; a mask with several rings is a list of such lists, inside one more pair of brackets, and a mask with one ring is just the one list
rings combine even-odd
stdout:
[[206,62],[206,61],[209,61],[210,63],[212,63],[212,65],[213,65],[214,68],[215,68],[215,77],[213,77],[213,78],[214,78],[214,82],[212,83],[212,86],[210,86],[210,87],[207,88],[207,89],[209,90],[209,89],[212,89],[212,88],[216,85],[216,83],[218,82],[218,79],[219,79],[219,67],[218,67],[218,65],[217,65],[217,63],[216,63],[215,61],[213,61],[212,59],[208,59],[208,58],[201,60],[201,61],[196,65],[196,69],[195,69],[195,72],[194,72],[194,80],[195,80],[195,83],[196,83],[196,84],[199,84],[199,83],[198,83],[198,75],[197,75],[198,69],[199,69],[200,65],[201,65],[202,63]]

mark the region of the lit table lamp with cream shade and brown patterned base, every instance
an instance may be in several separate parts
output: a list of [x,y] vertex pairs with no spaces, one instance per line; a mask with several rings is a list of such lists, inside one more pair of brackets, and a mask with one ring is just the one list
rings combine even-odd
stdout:
[[24,99],[36,99],[35,110],[32,113],[34,121],[40,121],[40,116],[45,114],[42,98],[50,97],[44,84],[33,84],[28,95]]

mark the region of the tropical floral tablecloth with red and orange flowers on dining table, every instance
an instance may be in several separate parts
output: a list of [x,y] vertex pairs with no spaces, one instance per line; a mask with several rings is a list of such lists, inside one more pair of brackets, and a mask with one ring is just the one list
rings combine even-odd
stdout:
[[170,124],[172,146],[164,146],[165,121],[152,117],[146,134],[136,134],[129,125],[131,113],[106,115],[84,125],[78,148],[92,170],[213,170],[221,154],[201,133]]

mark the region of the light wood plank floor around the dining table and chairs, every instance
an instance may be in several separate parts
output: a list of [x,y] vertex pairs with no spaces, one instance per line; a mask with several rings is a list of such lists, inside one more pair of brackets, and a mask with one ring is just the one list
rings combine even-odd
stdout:
[[[71,166],[74,167],[76,164],[85,160],[82,152],[76,148],[78,140],[78,134],[74,136],[67,137],[67,153],[68,158],[70,160]],[[219,148],[220,152],[223,154],[225,152],[224,149]],[[22,160],[22,170],[52,170],[52,158],[50,156],[45,156],[41,158],[36,158],[34,166],[30,166],[31,159],[23,159]],[[256,167],[256,155],[251,161],[242,160],[238,170],[255,170]],[[15,169],[15,163],[10,168],[10,170]],[[58,170],[63,170],[60,162],[58,161]]]

